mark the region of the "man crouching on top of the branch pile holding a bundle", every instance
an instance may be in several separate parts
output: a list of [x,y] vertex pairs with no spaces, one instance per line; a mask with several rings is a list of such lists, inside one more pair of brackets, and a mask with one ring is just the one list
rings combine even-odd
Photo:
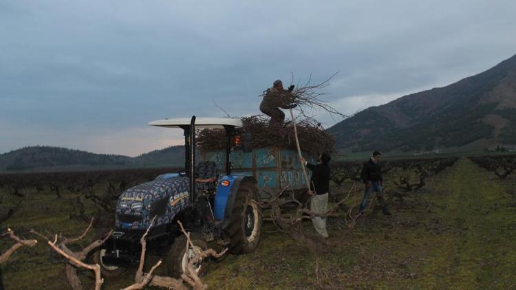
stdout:
[[264,100],[261,101],[260,111],[270,116],[270,126],[282,126],[285,121],[285,113],[281,109],[292,109],[296,107],[292,104],[292,91],[294,85],[283,89],[283,82],[275,80],[270,89],[264,93]]

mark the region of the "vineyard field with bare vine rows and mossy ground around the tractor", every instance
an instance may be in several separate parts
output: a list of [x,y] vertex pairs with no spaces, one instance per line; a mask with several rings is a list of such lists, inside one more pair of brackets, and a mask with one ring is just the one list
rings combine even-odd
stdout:
[[[323,254],[265,223],[255,252],[211,263],[203,280],[210,289],[516,289],[516,175],[501,177],[509,159],[473,160],[388,161],[385,192],[392,216],[372,208],[352,228],[343,216],[328,219],[330,252]],[[493,162],[501,166],[488,166]],[[354,182],[361,186],[354,180],[359,167],[334,164],[333,202]],[[121,190],[160,172],[1,176],[0,216],[13,209],[2,230],[9,226],[25,238],[32,238],[30,229],[77,236],[90,216],[111,210],[108,205]],[[356,205],[361,195],[361,188],[355,190],[338,213]],[[88,239],[107,230],[110,221],[104,220]],[[312,230],[310,221],[303,229]],[[6,237],[0,241],[0,252],[13,243]],[[21,247],[1,265],[3,286],[67,289],[63,265],[45,243]],[[164,268],[157,273],[164,274]],[[89,271],[81,270],[80,278],[87,288],[93,286]],[[127,287],[133,278],[131,271],[105,278],[103,289]]]

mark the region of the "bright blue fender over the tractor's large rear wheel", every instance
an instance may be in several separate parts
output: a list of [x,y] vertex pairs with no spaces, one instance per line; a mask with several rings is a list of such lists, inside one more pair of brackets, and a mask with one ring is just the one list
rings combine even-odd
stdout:
[[231,217],[238,189],[244,180],[255,184],[257,183],[254,177],[232,175],[222,177],[217,185],[213,214],[215,216],[215,220],[224,221],[222,228],[225,227],[227,221],[229,221]]

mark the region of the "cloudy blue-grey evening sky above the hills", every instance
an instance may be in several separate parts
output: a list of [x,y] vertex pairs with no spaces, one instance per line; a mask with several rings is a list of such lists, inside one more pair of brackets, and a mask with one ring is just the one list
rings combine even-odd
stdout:
[[182,143],[150,121],[256,115],[274,80],[336,72],[323,100],[351,114],[513,56],[515,11],[513,0],[0,0],[0,153],[136,156]]

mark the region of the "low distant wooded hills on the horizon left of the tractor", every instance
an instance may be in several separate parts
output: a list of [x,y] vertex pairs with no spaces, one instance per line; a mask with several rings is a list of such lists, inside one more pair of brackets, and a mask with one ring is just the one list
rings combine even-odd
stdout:
[[0,171],[7,172],[180,166],[183,163],[183,146],[154,150],[138,157],[96,154],[52,146],[30,146],[0,155]]

